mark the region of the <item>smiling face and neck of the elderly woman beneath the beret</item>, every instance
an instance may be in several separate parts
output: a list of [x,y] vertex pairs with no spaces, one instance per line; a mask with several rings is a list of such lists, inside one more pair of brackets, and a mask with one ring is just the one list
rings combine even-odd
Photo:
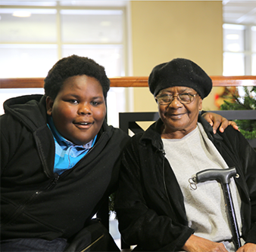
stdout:
[[[160,91],[161,94],[197,94],[194,89],[186,87],[172,87]],[[158,94],[158,95],[159,95]],[[158,112],[164,122],[164,129],[161,136],[163,138],[180,139],[196,128],[198,113],[202,107],[202,100],[199,95],[195,96],[192,103],[183,104],[174,97],[173,101],[167,105],[158,104]]]

